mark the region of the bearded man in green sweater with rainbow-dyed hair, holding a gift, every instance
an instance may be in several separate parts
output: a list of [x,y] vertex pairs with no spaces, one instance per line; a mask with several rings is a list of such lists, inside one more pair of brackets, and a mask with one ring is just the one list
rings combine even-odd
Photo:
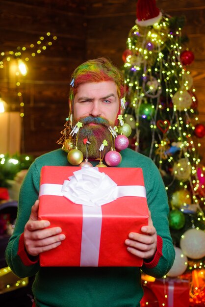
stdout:
[[[70,108],[73,125],[79,121],[83,123],[77,146],[85,156],[83,139],[89,139],[88,158],[93,166],[99,163],[96,159],[100,144],[104,139],[109,140],[107,128],[117,124],[123,88],[121,73],[105,58],[81,64],[72,76]],[[146,274],[163,277],[175,257],[163,181],[148,157],[130,149],[121,151],[121,155],[122,176],[124,167],[142,168],[150,210],[148,226],[143,226],[141,233],[128,233],[125,249],[143,258],[142,270]],[[39,181],[44,165],[71,166],[67,154],[61,149],[46,153],[33,162],[21,188],[17,222],[6,249],[7,263],[16,275],[35,275],[33,306],[140,307],[143,290],[139,267],[40,267],[39,254],[56,248],[65,239],[60,227],[48,228],[50,221],[38,220]],[[117,237],[118,233],[115,235]]]

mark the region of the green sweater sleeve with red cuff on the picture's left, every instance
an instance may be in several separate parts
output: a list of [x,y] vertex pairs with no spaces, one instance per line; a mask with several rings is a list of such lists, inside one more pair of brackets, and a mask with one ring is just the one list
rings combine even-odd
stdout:
[[29,261],[24,250],[24,227],[29,219],[31,207],[38,199],[40,174],[35,162],[30,166],[22,183],[19,195],[17,221],[9,239],[5,259],[11,270],[19,277],[33,276],[39,270],[39,261]]

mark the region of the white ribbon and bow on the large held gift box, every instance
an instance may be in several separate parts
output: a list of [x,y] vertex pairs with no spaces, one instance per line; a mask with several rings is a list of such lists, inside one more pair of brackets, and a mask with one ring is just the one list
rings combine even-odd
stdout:
[[134,196],[146,198],[142,185],[118,186],[108,175],[95,167],[84,167],[65,180],[63,184],[43,183],[42,195],[64,196],[75,204],[82,205],[82,239],[80,266],[98,266],[102,205],[113,202],[119,197]]

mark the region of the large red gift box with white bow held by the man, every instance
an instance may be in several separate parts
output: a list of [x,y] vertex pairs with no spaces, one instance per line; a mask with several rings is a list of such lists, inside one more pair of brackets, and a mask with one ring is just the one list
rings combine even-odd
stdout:
[[[68,177],[78,176],[79,170],[89,172],[83,181],[85,190],[92,190],[92,182],[86,181],[90,173],[94,176],[94,183],[96,174],[103,176],[98,183],[99,190],[90,202],[97,199],[99,203],[101,194],[108,193],[112,197],[116,191],[117,198],[104,205],[90,206],[89,201],[86,205],[79,205],[78,200],[74,203],[67,198],[75,193],[78,197],[78,187],[63,196],[63,186],[67,182],[71,184]],[[101,182],[104,182],[104,177],[113,180],[117,187],[112,188],[111,182],[103,190]],[[40,254],[41,266],[142,266],[142,258],[130,254],[125,245],[129,232],[141,233],[141,227],[148,225],[141,168],[44,166],[40,183],[39,219],[49,220],[50,227],[60,226],[66,235],[60,246]]]

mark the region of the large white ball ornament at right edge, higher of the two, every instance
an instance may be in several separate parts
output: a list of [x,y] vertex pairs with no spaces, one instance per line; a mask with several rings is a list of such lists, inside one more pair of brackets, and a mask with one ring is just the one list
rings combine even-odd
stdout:
[[180,248],[183,253],[192,259],[205,256],[205,231],[192,228],[186,230],[180,239]]

